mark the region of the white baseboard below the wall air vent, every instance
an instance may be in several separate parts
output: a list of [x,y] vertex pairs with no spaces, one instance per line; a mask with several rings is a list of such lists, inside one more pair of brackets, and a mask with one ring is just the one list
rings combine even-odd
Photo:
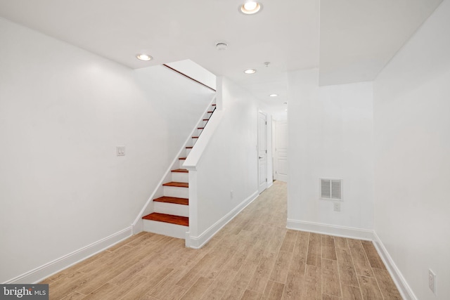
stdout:
[[324,235],[335,235],[338,237],[350,237],[359,240],[373,240],[373,230],[359,229],[345,226],[335,226],[323,223],[298,221],[288,219],[286,228],[308,231],[310,233],[321,233]]

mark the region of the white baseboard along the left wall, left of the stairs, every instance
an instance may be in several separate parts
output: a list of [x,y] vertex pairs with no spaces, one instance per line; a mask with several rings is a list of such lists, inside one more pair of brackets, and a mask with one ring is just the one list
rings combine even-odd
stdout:
[[54,261],[50,261],[49,263],[44,264],[34,270],[30,270],[27,273],[19,275],[16,278],[8,280],[4,283],[28,283],[34,284],[37,282],[41,282],[45,278],[60,272],[60,270],[64,270],[75,263],[79,263],[84,259],[87,259],[89,256],[93,256],[98,252],[102,252],[104,249],[108,249],[113,246],[113,244],[117,244],[118,242],[130,237],[132,234],[131,226],[125,228],[124,230],[120,230],[118,233],[113,233],[108,237],[105,237],[97,242],[87,245],[81,249],[75,250],[70,254],[66,254],[65,256],[60,257],[59,259],[55,259]]

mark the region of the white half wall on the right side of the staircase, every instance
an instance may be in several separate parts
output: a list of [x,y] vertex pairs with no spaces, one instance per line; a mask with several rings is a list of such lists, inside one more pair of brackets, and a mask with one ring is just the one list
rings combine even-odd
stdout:
[[[217,97],[217,112],[198,144],[203,143],[202,138],[210,139],[201,157],[194,159],[194,148],[184,165],[190,176],[191,219],[186,244],[193,248],[201,247],[258,195],[258,101],[226,78],[222,79],[221,95]],[[214,134],[210,135],[209,130],[214,130]]]

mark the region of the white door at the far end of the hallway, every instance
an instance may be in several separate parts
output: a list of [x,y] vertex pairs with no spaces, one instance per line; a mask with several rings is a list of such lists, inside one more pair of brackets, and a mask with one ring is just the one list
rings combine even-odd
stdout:
[[288,122],[275,124],[274,178],[288,182]]

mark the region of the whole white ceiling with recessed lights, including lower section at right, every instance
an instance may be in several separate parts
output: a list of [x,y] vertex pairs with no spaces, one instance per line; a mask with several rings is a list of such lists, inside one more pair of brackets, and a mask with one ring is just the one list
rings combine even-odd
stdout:
[[238,12],[243,1],[0,0],[0,16],[131,68],[191,59],[284,111],[288,70],[372,80],[442,0],[261,0],[256,15]]

